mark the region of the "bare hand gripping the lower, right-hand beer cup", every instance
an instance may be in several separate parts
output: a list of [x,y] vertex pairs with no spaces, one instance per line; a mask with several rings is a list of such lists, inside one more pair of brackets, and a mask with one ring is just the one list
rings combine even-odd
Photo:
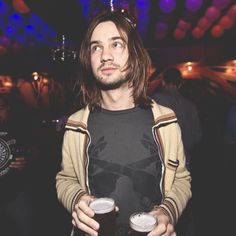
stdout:
[[150,214],[157,218],[158,223],[148,236],[176,236],[174,226],[166,215],[158,211],[152,211]]

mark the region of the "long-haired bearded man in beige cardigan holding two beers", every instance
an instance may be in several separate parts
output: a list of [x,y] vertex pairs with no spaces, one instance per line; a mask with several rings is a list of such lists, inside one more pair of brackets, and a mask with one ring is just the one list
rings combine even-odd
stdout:
[[80,66],[82,109],[67,121],[56,176],[74,228],[98,235],[89,203],[104,196],[116,202],[117,235],[127,236],[129,216],[145,211],[158,219],[149,236],[175,236],[191,177],[175,114],[146,95],[150,58],[127,15],[108,11],[92,20]]

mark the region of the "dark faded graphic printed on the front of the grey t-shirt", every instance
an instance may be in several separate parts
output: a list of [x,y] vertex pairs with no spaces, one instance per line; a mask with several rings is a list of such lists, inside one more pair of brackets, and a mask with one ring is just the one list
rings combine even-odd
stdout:
[[[119,195],[119,189],[127,187],[129,194],[134,194],[136,199],[134,202],[138,208],[149,210],[154,204],[159,203],[161,201],[159,189],[161,164],[157,146],[153,144],[153,141],[147,135],[143,135],[140,145],[149,151],[149,156],[123,165],[116,160],[102,159],[101,153],[106,149],[106,145],[105,138],[101,137],[89,148],[91,192],[95,196],[112,196],[115,193]],[[132,157],[132,159],[136,158]]]

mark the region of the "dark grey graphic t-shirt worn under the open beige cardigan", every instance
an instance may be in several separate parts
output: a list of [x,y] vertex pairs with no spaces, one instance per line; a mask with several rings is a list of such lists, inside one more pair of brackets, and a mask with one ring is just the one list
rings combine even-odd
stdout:
[[101,109],[89,117],[89,187],[96,197],[115,199],[119,236],[128,235],[133,212],[148,212],[162,199],[162,164],[152,126],[150,109]]

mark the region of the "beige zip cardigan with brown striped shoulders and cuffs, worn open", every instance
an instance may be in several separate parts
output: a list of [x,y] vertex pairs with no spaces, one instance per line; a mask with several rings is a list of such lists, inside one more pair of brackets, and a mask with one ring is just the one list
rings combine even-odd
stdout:
[[[162,159],[161,190],[162,203],[157,206],[176,224],[191,198],[191,176],[185,166],[185,154],[181,131],[176,116],[169,108],[153,101],[155,125],[154,139],[159,146]],[[72,212],[74,205],[88,188],[88,155],[90,135],[87,130],[89,109],[72,114],[66,124],[62,145],[61,170],[56,175],[56,189],[59,201]],[[73,233],[72,233],[73,235]]]

